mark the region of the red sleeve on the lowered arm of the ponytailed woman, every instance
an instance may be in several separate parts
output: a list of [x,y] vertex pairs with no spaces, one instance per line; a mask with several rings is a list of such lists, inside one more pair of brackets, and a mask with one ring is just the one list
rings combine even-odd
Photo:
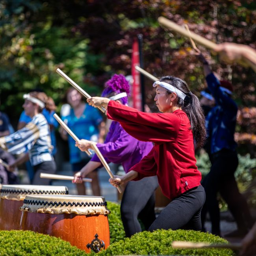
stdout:
[[141,180],[142,178],[148,176],[155,176],[158,170],[158,166],[156,164],[156,160],[154,158],[154,154],[156,154],[155,148],[153,147],[151,151],[144,156],[144,158],[139,161],[139,163],[135,164],[129,171],[136,171],[138,173],[137,178],[134,180]]

